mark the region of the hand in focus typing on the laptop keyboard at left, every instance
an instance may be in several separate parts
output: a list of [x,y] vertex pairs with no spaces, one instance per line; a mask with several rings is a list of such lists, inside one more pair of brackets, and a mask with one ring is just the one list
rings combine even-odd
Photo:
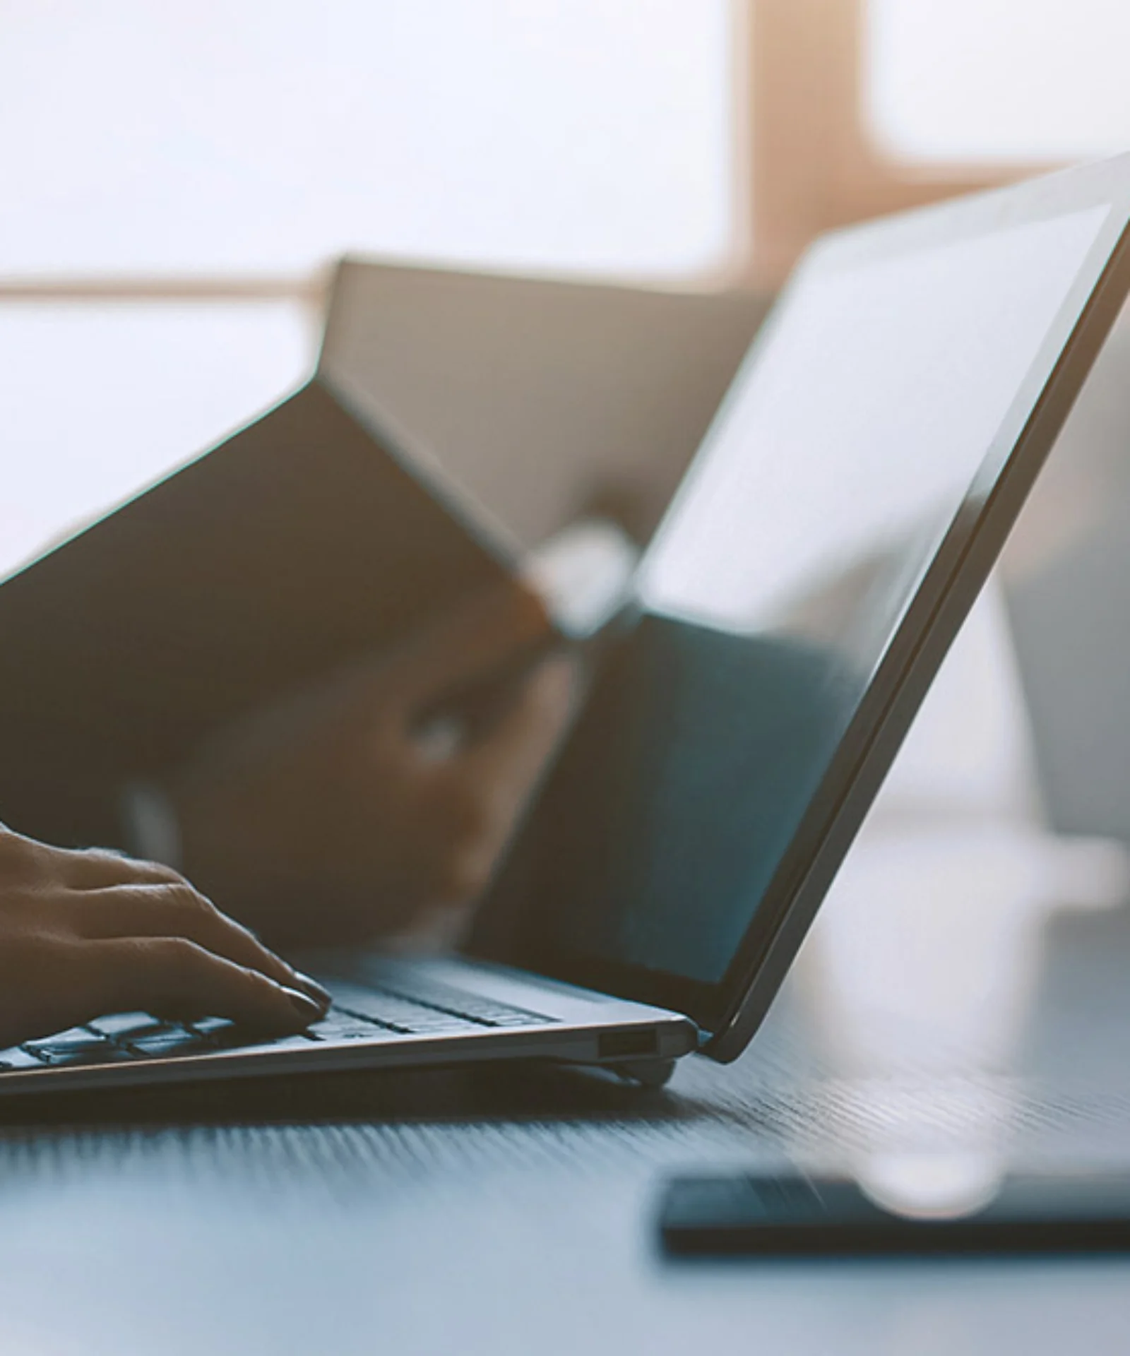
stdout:
[[327,999],[168,866],[0,826],[0,1048],[117,1012],[281,1035]]

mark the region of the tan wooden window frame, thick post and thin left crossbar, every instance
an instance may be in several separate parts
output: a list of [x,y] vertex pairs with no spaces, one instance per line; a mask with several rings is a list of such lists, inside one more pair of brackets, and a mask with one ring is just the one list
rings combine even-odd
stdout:
[[[730,0],[734,252],[688,286],[776,289],[822,231],[1051,165],[901,161],[867,123],[867,0]],[[0,278],[0,302],[106,305],[294,301],[320,315],[330,271],[263,278]]]

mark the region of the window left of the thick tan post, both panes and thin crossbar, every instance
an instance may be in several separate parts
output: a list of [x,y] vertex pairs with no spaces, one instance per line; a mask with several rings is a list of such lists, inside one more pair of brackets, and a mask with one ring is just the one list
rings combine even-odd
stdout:
[[345,250],[724,270],[734,23],[730,0],[8,0],[0,570],[282,392]]

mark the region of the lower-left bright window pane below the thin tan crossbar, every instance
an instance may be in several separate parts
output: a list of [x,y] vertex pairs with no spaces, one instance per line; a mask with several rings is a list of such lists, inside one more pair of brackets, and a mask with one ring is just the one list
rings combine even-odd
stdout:
[[303,308],[0,306],[0,574],[270,404]]

